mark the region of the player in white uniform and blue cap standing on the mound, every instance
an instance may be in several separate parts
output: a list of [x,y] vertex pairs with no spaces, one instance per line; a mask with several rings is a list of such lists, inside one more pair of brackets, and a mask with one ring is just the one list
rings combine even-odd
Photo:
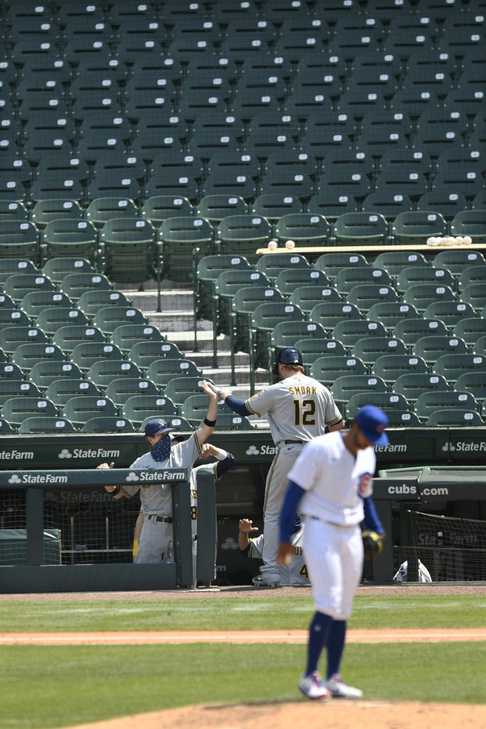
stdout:
[[[292,558],[290,539],[295,512],[304,515],[304,550],[313,587],[315,615],[309,629],[307,668],[299,689],[308,698],[361,698],[362,691],[340,676],[346,620],[363,569],[361,521],[383,534],[372,502],[376,467],[373,445],[386,445],[388,418],[380,408],[364,405],[353,426],[307,443],[289,472],[281,513],[280,564]],[[327,651],[326,679],[318,673],[322,650]]]

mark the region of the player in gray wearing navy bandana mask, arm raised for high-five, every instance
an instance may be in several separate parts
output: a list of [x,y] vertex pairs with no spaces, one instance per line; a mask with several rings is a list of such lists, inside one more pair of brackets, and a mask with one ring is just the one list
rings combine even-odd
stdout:
[[[145,426],[145,437],[151,446],[130,468],[187,467],[203,453],[203,443],[213,433],[218,412],[218,397],[203,381],[202,389],[209,397],[208,413],[203,424],[184,443],[171,446],[170,432],[173,428],[162,418],[153,418]],[[98,468],[113,468],[114,463],[102,463]],[[140,491],[141,513],[144,522],[138,537],[136,563],[173,562],[172,488],[170,484],[153,483],[141,486],[136,480],[123,486],[105,486],[115,499],[130,498]]]

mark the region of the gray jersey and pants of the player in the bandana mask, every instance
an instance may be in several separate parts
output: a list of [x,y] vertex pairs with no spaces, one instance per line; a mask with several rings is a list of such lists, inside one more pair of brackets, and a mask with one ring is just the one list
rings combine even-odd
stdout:
[[[171,448],[171,455],[165,461],[155,461],[152,453],[133,461],[130,468],[187,468],[189,473],[192,464],[203,449],[197,439],[196,431],[184,443]],[[126,483],[120,487],[125,496],[134,496],[140,490],[140,511],[144,514],[144,523],[138,539],[136,563],[173,562],[173,527],[172,524],[157,521],[157,517],[172,516],[172,486],[170,483]]]

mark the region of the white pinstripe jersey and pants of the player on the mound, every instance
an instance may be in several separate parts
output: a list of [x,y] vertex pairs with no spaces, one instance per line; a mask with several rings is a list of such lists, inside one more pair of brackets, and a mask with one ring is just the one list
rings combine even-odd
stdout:
[[[348,451],[340,432],[307,443],[289,472],[305,490],[299,504],[305,521],[305,561],[315,609],[335,620],[351,615],[361,580],[363,498],[372,495],[375,450]],[[362,498],[363,497],[363,498]]]

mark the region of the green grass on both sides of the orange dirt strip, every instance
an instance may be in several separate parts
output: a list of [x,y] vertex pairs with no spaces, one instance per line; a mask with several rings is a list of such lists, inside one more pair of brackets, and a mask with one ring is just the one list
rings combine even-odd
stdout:
[[[310,596],[0,603],[1,632],[305,629]],[[358,596],[350,628],[485,627],[485,596]],[[305,645],[4,646],[1,729],[55,729],[215,701],[304,701]],[[486,642],[348,644],[369,699],[486,703]],[[372,666],[372,669],[371,669]],[[460,677],[460,680],[458,680]]]

